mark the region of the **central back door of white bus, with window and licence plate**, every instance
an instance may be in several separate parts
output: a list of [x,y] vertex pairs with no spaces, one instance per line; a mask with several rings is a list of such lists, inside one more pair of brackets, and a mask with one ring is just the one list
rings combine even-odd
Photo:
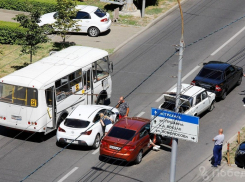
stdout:
[[21,124],[27,125],[28,121],[26,119],[26,105],[28,89],[26,87],[13,85],[9,85],[9,87],[11,87],[11,90],[9,90],[8,93],[11,95],[12,103],[9,104],[7,111],[7,118],[9,118],[8,121],[15,123],[16,126]]

